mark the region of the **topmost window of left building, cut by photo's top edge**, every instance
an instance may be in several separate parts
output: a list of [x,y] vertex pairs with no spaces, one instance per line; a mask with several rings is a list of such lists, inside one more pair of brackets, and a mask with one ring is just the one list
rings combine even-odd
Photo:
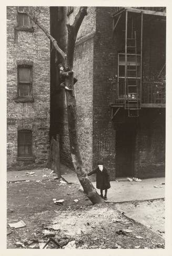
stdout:
[[18,6],[18,13],[17,13],[17,23],[18,26],[24,26],[29,28],[31,26],[31,22],[29,17],[24,11],[24,8],[29,12],[29,7],[28,6]]

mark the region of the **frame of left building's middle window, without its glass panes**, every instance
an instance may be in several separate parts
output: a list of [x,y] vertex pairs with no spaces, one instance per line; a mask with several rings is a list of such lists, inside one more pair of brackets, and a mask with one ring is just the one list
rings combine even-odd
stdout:
[[[19,81],[19,68],[29,68],[30,69],[29,83]],[[29,96],[28,97],[19,95],[19,84],[29,84]],[[33,86],[33,67],[31,65],[17,65],[17,98],[18,99],[26,99],[26,100],[33,99],[32,86]]]

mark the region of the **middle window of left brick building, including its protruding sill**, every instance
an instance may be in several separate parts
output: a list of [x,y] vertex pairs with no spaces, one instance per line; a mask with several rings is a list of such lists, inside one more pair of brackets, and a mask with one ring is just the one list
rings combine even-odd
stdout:
[[32,66],[17,66],[17,102],[33,102],[32,96]]

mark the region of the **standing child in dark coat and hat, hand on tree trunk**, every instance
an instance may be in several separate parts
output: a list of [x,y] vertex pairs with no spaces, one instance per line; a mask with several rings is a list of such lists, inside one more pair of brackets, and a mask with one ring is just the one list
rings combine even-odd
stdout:
[[[110,188],[110,177],[108,171],[103,166],[103,161],[100,160],[97,163],[98,167],[89,172],[88,176],[96,173],[96,188],[100,189],[100,196],[107,200],[107,189]],[[103,196],[103,190],[105,190],[105,196]]]

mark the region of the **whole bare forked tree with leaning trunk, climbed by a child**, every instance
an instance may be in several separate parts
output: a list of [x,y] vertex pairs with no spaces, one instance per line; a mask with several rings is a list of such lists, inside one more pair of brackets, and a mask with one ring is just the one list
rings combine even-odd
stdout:
[[[40,29],[44,31],[46,36],[52,42],[55,50],[63,57],[65,67],[73,70],[74,62],[74,50],[75,42],[78,30],[82,24],[84,17],[87,15],[87,7],[80,7],[77,15],[75,16],[74,23],[72,25],[67,24],[68,40],[67,40],[67,53],[63,52],[62,49],[58,47],[57,41],[52,35],[44,28],[44,26],[39,23],[37,17],[32,13],[27,12],[25,8],[25,13],[38,25]],[[65,86],[72,87],[74,92],[74,74],[69,72],[69,76],[65,77]],[[72,161],[74,164],[75,172],[77,173],[80,184],[82,185],[84,192],[93,204],[105,203],[105,201],[98,195],[96,189],[94,188],[92,182],[89,180],[86,171],[83,169],[83,163],[79,152],[78,146],[78,135],[77,135],[77,115],[76,115],[76,99],[74,93],[65,90],[66,102],[67,102],[67,116],[68,116],[68,130],[69,130],[69,142],[70,142],[70,153],[72,156]]]

